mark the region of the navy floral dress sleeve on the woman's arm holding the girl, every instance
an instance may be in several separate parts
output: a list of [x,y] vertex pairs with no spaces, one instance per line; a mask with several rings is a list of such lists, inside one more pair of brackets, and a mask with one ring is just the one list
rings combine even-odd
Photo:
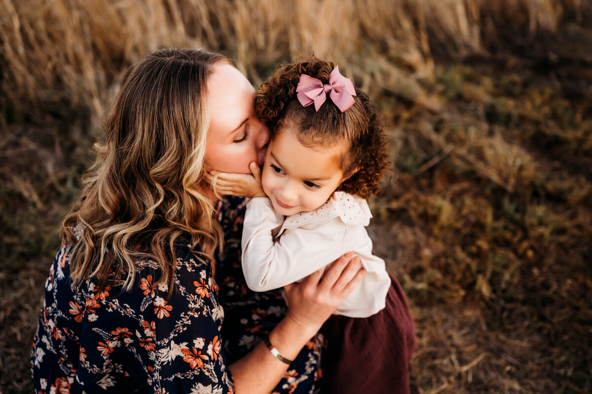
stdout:
[[166,285],[143,281],[144,291],[153,292],[152,305],[146,307],[153,312],[143,322],[144,333],[154,338],[149,345],[155,357],[152,392],[232,393],[220,338],[224,312],[210,264],[189,252],[178,258],[175,276],[170,298]]

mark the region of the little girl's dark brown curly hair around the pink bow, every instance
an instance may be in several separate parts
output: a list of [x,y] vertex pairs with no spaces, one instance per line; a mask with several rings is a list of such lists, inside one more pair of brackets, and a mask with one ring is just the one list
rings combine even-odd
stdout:
[[343,113],[329,97],[318,112],[314,105],[303,107],[296,98],[300,75],[329,84],[334,67],[333,62],[313,56],[279,68],[259,87],[255,113],[269,128],[272,138],[283,127],[290,127],[305,146],[348,142],[349,149],[340,158],[339,166],[349,178],[337,190],[367,198],[380,193],[378,184],[389,164],[382,121],[368,95],[356,88],[354,104]]

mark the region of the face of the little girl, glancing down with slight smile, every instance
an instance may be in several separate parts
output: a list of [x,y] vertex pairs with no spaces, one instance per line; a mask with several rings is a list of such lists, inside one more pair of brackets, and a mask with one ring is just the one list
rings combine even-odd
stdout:
[[284,127],[269,142],[263,167],[263,191],[276,212],[285,216],[322,206],[345,180],[339,168],[345,143],[308,148],[296,133]]

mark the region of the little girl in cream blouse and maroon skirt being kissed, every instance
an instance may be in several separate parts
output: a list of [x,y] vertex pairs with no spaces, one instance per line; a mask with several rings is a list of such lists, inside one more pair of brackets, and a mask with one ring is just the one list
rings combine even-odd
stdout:
[[365,230],[372,215],[364,198],[378,193],[387,166],[374,106],[316,58],[276,71],[255,106],[271,131],[262,174],[254,163],[254,177],[215,174],[218,192],[252,197],[242,239],[248,286],[276,289],[353,251],[366,275],[323,328],[326,391],[409,392],[413,321]]

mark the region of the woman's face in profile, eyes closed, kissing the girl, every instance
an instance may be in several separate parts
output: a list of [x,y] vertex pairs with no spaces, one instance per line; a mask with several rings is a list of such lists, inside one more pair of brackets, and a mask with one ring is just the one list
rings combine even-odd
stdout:
[[207,171],[250,174],[249,164],[263,165],[269,132],[255,117],[255,89],[236,68],[214,66],[207,82],[210,129],[206,137]]

